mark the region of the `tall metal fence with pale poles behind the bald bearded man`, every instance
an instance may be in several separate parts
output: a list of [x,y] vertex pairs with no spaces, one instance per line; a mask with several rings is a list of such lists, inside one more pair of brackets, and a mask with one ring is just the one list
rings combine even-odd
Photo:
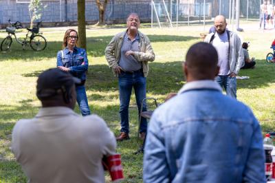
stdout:
[[[154,0],[152,26],[178,26],[212,22],[218,14],[227,19],[257,20],[263,0]],[[275,0],[270,0],[273,5]],[[239,8],[238,8],[239,7]]]

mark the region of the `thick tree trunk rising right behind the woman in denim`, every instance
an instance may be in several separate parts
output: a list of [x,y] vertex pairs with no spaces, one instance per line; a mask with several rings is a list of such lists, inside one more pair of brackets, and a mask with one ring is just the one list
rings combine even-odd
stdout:
[[86,50],[85,0],[78,0],[78,46]]

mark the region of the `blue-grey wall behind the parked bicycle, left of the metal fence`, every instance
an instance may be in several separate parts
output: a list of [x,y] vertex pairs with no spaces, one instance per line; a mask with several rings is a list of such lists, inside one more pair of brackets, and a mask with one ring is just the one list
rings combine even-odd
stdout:
[[[22,2],[23,1],[23,2]],[[21,21],[30,23],[30,14],[28,11],[29,0],[2,0],[0,1],[0,24]],[[77,1],[42,1],[46,6],[42,12],[43,22],[65,22],[77,21]],[[98,21],[98,8],[94,0],[86,1],[86,20]],[[140,14],[140,19],[151,19],[151,1],[134,1],[134,0],[109,0],[107,4],[105,19],[107,21],[123,21],[130,12]]]

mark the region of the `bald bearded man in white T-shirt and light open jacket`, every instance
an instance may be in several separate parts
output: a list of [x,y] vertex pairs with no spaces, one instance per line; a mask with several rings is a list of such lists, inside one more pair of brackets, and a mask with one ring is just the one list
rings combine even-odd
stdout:
[[225,89],[226,95],[236,98],[236,75],[243,64],[243,49],[239,36],[226,30],[226,20],[223,15],[214,19],[216,32],[208,34],[204,42],[212,44],[219,54],[219,74],[215,81]]

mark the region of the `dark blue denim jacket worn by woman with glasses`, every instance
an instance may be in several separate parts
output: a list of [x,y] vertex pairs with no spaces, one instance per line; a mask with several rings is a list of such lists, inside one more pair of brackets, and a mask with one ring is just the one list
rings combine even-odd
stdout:
[[69,67],[69,72],[80,80],[86,80],[86,71],[88,69],[88,58],[85,49],[74,47],[74,52],[69,52],[65,47],[63,50],[64,60],[62,53],[57,53],[57,66]]

